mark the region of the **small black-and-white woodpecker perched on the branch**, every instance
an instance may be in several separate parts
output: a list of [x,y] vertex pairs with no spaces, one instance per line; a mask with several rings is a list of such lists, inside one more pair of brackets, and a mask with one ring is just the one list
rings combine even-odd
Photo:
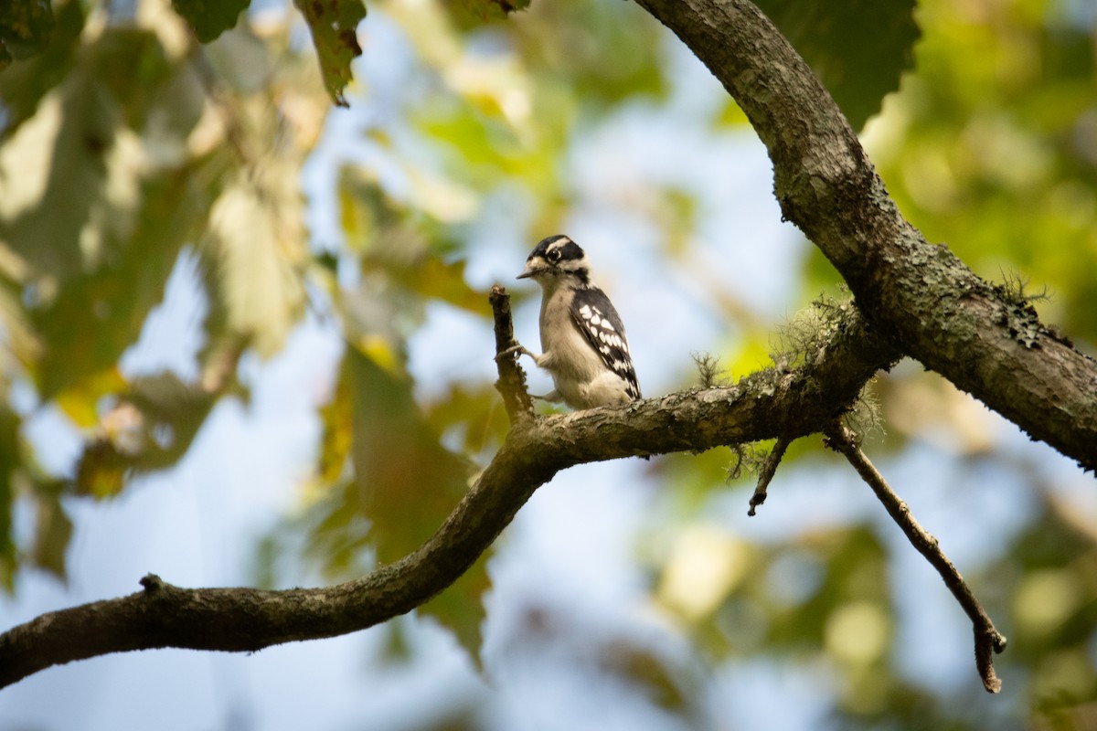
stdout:
[[534,398],[563,401],[576,411],[643,398],[624,323],[590,278],[590,264],[579,244],[563,235],[542,239],[518,278],[541,285],[542,353],[519,343],[502,354],[529,355],[552,376],[555,388]]

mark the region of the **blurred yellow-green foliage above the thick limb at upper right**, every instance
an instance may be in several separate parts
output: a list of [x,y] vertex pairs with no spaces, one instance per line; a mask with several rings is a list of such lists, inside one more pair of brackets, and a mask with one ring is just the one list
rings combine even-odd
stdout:
[[[1084,7],[1090,8],[1087,16]],[[921,2],[917,72],[867,146],[904,214],[987,279],[1020,276],[1097,342],[1097,59],[1087,3]],[[833,281],[813,260],[814,279]]]

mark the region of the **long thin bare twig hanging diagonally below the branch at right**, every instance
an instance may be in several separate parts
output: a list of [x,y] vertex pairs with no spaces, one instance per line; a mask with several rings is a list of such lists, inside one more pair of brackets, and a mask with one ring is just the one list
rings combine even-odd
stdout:
[[857,473],[861,476],[861,479],[869,483],[872,491],[877,493],[877,498],[884,504],[887,514],[898,524],[918,552],[925,556],[929,563],[937,569],[949,591],[957,597],[963,610],[968,613],[975,631],[975,665],[983,678],[983,687],[986,688],[987,693],[1000,690],[1002,681],[994,672],[993,658],[995,653],[1006,649],[1006,638],[994,628],[989,615],[975,598],[957,568],[941,551],[937,538],[914,518],[907,504],[895,494],[883,476],[857,446],[850,431],[840,423],[834,422],[824,433],[827,446],[846,457]]

